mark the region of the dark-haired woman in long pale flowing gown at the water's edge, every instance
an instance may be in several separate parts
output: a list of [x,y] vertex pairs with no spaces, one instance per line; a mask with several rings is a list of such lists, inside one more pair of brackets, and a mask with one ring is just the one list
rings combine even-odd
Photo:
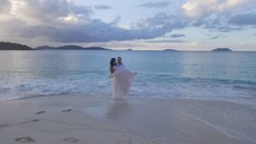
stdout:
[[118,66],[115,58],[110,60],[109,71],[113,79],[113,99],[122,100],[128,95],[131,82],[137,73],[130,72],[125,66]]

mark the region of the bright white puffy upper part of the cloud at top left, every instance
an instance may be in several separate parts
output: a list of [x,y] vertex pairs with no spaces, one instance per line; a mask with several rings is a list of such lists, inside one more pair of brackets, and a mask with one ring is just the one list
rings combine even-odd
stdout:
[[[9,0],[10,10],[4,14],[29,25],[56,25],[57,22],[87,20],[90,8],[80,7],[70,0]],[[60,21],[58,21],[60,20]]]

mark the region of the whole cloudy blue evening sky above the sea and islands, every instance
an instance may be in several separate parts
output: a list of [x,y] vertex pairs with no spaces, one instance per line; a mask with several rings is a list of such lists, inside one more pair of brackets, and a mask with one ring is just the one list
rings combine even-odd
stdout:
[[0,41],[256,51],[256,0],[0,0]]

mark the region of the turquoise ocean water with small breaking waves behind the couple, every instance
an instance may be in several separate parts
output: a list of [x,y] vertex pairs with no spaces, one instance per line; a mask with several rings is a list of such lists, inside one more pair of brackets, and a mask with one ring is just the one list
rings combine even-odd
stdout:
[[111,95],[109,60],[137,72],[130,95],[256,103],[256,52],[0,51],[0,101]]

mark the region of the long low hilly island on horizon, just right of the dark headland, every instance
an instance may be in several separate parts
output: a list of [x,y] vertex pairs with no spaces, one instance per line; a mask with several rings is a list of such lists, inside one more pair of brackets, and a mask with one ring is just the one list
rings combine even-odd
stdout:
[[48,45],[40,46],[35,48],[35,50],[111,50],[111,49],[106,49],[102,47],[80,47],[78,45],[64,45],[61,47],[49,47]]

